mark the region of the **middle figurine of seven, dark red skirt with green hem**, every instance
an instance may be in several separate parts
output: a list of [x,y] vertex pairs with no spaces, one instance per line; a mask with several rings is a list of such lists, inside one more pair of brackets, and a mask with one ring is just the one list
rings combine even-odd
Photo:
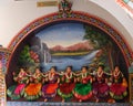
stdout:
[[72,73],[72,66],[68,66],[62,77],[62,83],[58,88],[58,94],[62,97],[62,102],[70,99],[74,89],[74,75]]

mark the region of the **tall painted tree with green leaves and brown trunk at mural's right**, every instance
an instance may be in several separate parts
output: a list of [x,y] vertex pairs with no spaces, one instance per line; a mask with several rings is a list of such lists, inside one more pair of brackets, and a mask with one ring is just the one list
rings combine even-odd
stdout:
[[94,49],[96,50],[101,49],[104,52],[104,55],[102,55],[99,59],[99,62],[106,63],[105,55],[108,55],[110,68],[113,70],[113,60],[112,60],[113,44],[110,38],[94,26],[84,25],[84,29],[85,29],[84,39],[89,40],[93,44]]

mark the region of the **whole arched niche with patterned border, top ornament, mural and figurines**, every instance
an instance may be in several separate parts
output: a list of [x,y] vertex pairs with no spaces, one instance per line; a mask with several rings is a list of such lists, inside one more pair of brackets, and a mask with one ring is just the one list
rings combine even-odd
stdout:
[[101,19],[71,7],[61,0],[59,12],[33,21],[10,43],[8,102],[129,102],[133,57],[126,42]]

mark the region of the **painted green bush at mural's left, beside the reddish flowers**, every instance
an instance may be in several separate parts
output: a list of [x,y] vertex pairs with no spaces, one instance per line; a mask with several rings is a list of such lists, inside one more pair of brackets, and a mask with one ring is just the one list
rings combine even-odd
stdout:
[[18,64],[19,66],[22,66],[22,67],[29,67],[30,65],[34,64],[34,61],[30,56],[29,45],[25,45],[23,50],[20,52]]

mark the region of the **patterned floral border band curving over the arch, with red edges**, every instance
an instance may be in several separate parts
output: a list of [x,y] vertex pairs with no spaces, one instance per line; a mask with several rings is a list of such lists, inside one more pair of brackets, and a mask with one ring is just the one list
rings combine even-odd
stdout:
[[[28,24],[24,29],[22,29],[14,36],[14,39],[9,44],[8,49],[11,51],[10,60],[12,57],[13,52],[21,43],[21,41],[24,38],[27,38],[31,32],[33,32],[34,30],[37,30],[41,26],[44,26],[44,25],[48,25],[48,24],[54,23],[54,22],[60,22],[60,21],[79,21],[79,22],[92,24],[92,25],[101,29],[102,31],[108,33],[115,41],[115,43],[121,49],[121,51],[124,55],[126,65],[127,66],[131,65],[131,63],[133,61],[133,54],[131,52],[130,45],[125,42],[125,40],[122,38],[122,35],[117,31],[115,31],[112,26],[110,26],[106,22],[104,22],[102,19],[96,18],[94,15],[90,15],[89,13],[80,12],[80,11],[72,11],[69,14],[60,14],[59,12],[55,12],[55,13],[39,18],[39,19],[34,20],[33,22],[31,22],[30,24]],[[10,61],[9,61],[9,63],[10,63]]]

